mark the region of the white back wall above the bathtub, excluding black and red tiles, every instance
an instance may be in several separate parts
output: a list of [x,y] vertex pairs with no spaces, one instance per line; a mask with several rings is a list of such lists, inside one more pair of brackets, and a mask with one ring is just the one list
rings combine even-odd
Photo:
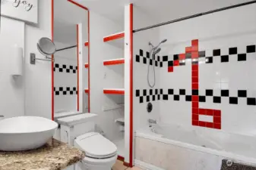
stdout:
[[[161,26],[160,40],[168,39],[161,54],[168,54],[169,60],[173,60],[173,54],[185,53],[192,39],[199,39],[199,51],[206,51],[206,57],[213,56],[213,49],[229,55],[229,48],[237,47],[239,54],[247,55],[245,61],[238,61],[238,55],[233,54],[226,63],[222,63],[219,56],[213,57],[213,63],[199,64],[199,95],[205,96],[206,89],[213,89],[214,96],[220,96],[221,90],[229,90],[229,97],[238,97],[238,90],[246,90],[247,97],[255,98],[256,53],[246,52],[248,45],[256,44],[255,7],[247,5]],[[191,63],[186,61],[186,66],[174,66],[173,73],[168,73],[167,62],[164,63],[160,85],[165,94],[169,88],[173,88],[175,94],[183,88],[186,95],[191,95]],[[206,102],[200,102],[199,107],[221,110],[223,131],[255,134],[256,107],[248,105],[246,97],[238,97],[238,104],[229,104],[229,97],[221,97],[221,104],[213,103],[213,97],[206,97]],[[160,118],[162,122],[192,128],[191,102],[185,101],[185,96],[174,101],[169,95],[169,100],[161,101]]]

